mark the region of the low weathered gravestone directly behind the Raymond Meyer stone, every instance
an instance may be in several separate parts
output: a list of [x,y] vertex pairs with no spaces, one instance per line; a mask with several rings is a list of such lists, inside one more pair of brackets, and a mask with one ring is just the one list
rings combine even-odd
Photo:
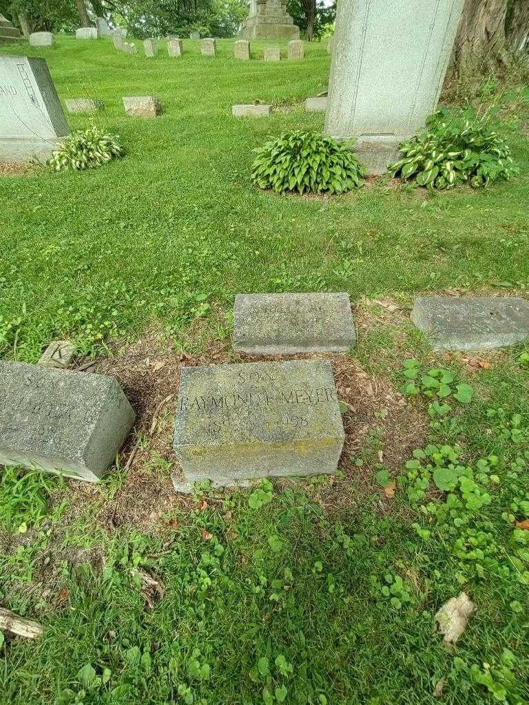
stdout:
[[343,353],[356,343],[347,293],[238,294],[233,345],[238,353]]

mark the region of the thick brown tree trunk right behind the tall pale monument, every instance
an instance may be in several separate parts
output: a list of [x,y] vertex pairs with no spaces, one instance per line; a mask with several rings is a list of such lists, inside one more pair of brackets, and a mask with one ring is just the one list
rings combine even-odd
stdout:
[[465,0],[452,56],[456,77],[482,73],[506,62],[507,2]]

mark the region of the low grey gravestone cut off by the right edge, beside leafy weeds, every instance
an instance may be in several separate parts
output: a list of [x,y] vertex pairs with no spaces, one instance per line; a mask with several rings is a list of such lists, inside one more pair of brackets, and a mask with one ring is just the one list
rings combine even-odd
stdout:
[[529,338],[529,301],[516,296],[418,298],[411,320],[434,350],[482,350]]

